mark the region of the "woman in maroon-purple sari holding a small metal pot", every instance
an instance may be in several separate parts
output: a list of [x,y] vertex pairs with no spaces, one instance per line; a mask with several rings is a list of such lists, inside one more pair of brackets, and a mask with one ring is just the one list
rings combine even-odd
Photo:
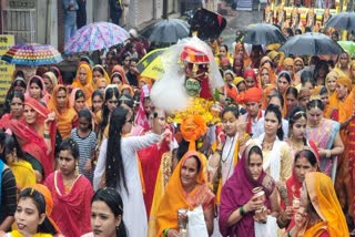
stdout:
[[[264,197],[253,192],[258,187]],[[263,208],[262,215],[255,212]],[[271,212],[267,217],[266,212]],[[277,189],[274,179],[263,171],[263,153],[260,146],[250,144],[236,165],[232,177],[221,194],[220,230],[222,236],[257,236],[255,225],[275,226],[278,213]],[[273,223],[272,223],[273,221]],[[274,224],[274,225],[273,225]],[[271,230],[271,229],[270,229]],[[276,229],[272,233],[276,235]]]

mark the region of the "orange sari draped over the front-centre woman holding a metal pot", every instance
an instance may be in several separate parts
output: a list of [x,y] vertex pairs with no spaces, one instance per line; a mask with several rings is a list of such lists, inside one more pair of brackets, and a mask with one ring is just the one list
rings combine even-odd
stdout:
[[[196,156],[201,162],[201,168],[197,175],[197,184],[194,189],[186,193],[181,184],[180,172],[187,158]],[[166,192],[162,197],[155,219],[155,236],[163,236],[163,230],[166,228],[178,229],[178,209],[186,208],[194,209],[196,206],[202,205],[203,209],[213,208],[214,194],[206,185],[205,177],[206,161],[202,158],[200,153],[191,151],[187,152],[176,165],[168,185]]]

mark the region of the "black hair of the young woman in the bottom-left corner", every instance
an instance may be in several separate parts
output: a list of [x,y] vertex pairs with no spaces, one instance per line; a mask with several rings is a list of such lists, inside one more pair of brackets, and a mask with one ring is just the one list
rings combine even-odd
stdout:
[[[21,198],[31,198],[38,209],[39,215],[45,215],[45,198],[40,192],[36,190],[34,188],[28,187],[21,190],[19,200]],[[58,234],[48,216],[45,216],[43,223],[38,226],[37,233],[45,233],[53,236]]]

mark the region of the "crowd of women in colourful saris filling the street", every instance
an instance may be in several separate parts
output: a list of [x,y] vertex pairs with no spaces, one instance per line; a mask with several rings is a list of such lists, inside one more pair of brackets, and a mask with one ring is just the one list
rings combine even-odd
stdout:
[[131,54],[82,58],[72,81],[17,71],[0,236],[348,236],[355,61],[261,50],[211,43],[225,82],[215,123],[168,123]]

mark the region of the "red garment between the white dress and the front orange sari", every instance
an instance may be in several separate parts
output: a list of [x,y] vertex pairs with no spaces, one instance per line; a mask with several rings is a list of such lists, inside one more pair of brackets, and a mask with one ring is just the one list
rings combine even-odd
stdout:
[[138,156],[141,161],[142,173],[145,184],[145,194],[143,197],[148,217],[151,213],[151,207],[153,203],[155,182],[160,167],[160,162],[162,155],[168,151],[168,143],[163,142],[160,147],[158,147],[158,144],[154,144],[138,152]]

